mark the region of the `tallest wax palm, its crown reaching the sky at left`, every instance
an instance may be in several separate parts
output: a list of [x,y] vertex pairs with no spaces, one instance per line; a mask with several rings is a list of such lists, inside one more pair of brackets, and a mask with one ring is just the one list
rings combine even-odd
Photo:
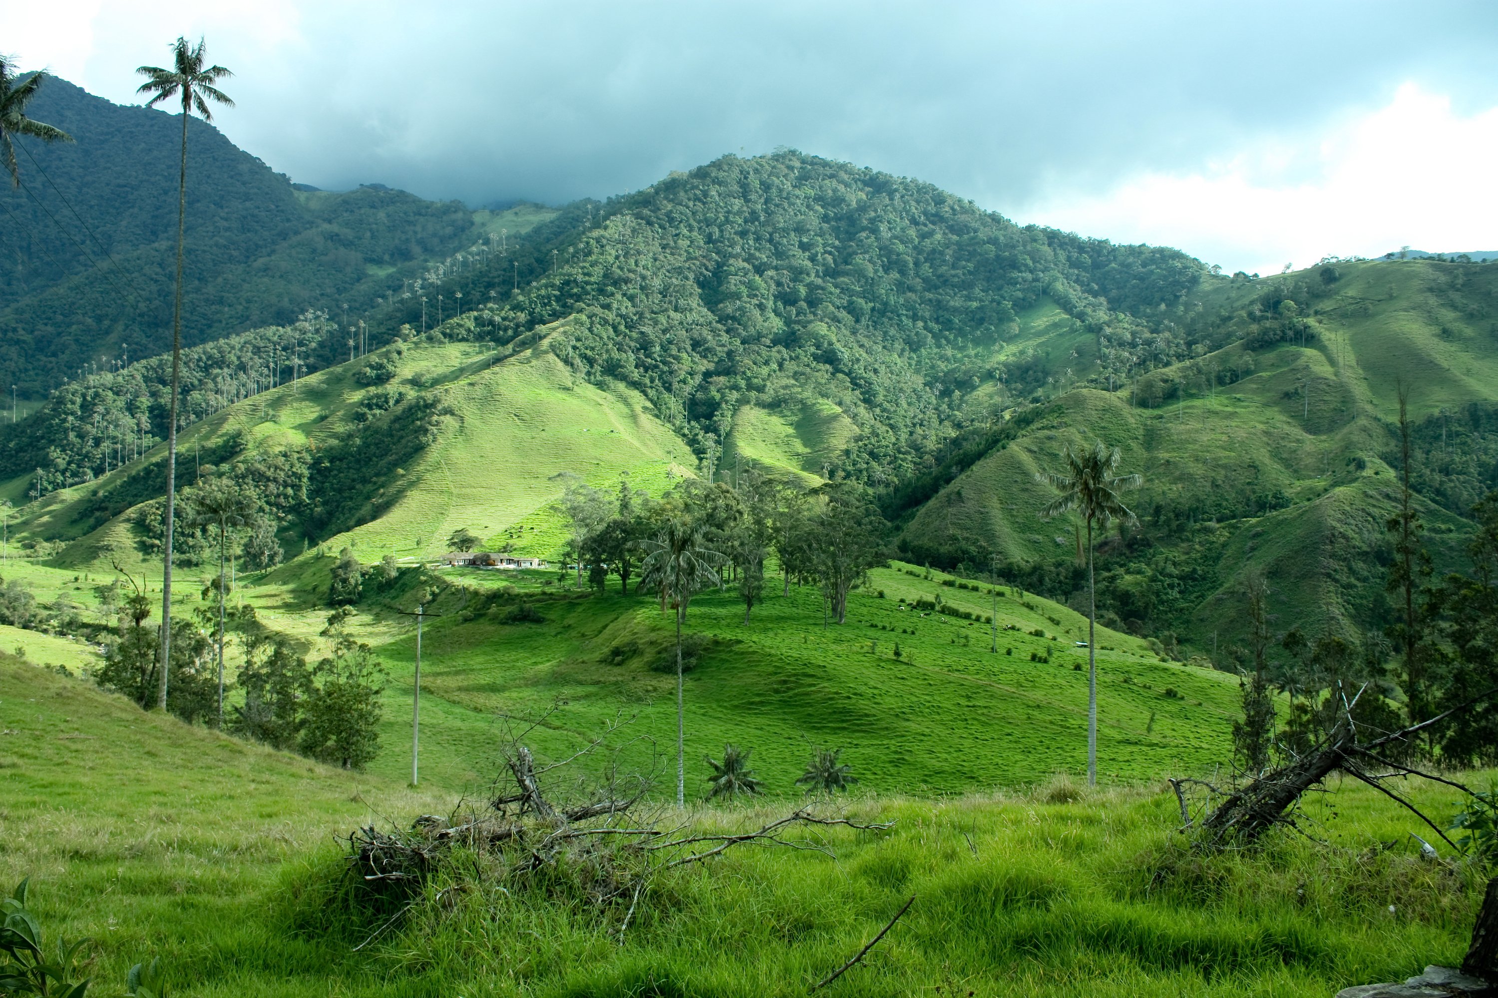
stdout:
[[181,353],[183,353],[183,236],[187,220],[187,118],[196,108],[204,121],[213,121],[213,111],[208,102],[234,106],[222,91],[213,84],[225,76],[232,76],[223,66],[204,67],[204,43],[192,46],[186,37],[178,37],[172,45],[172,69],[159,66],[141,66],[138,73],[148,76],[136,93],[148,93],[151,99],[145,102],[150,108],[172,97],[181,97],[183,103],[183,156],[181,172],[177,181],[177,301],[172,307],[172,402],[171,422],[166,426],[166,528],[162,537],[165,560],[162,564],[162,672],[156,690],[156,705],[166,709],[166,666],[171,661],[172,637],[172,516],[177,503],[177,395],[181,383]]

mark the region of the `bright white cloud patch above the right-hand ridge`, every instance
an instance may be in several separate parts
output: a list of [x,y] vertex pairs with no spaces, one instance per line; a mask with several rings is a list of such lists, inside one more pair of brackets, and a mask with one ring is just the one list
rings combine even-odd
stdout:
[[1201,172],[1149,172],[1083,199],[1052,192],[1020,214],[1118,241],[1189,245],[1251,272],[1401,245],[1492,250],[1495,162],[1498,108],[1464,117],[1450,99],[1407,84],[1387,106],[1320,139],[1245,151]]

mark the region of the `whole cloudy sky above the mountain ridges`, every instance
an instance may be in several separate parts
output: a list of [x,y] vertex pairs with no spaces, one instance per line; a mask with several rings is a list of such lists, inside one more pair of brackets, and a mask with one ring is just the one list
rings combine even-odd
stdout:
[[1498,250],[1498,3],[0,0],[135,103],[204,36],[241,148],[330,190],[560,203],[777,147],[1228,271]]

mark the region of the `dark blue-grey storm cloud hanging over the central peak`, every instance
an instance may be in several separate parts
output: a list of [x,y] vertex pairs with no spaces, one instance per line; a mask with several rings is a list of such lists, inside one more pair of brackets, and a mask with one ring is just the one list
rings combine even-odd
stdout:
[[[1001,211],[1383,106],[1498,103],[1491,3],[303,7],[231,138],[294,180],[607,196],[789,145]],[[1314,165],[1287,165],[1290,175]]]

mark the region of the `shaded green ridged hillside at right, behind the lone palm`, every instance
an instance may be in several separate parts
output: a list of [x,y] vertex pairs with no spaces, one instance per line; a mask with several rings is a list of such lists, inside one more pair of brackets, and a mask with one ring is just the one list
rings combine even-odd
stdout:
[[[1085,585],[1067,564],[1076,540],[1070,525],[1040,519],[1047,497],[1034,476],[1058,467],[1062,447],[1104,440],[1122,447],[1125,470],[1144,476],[1129,498],[1140,528],[1101,552],[1101,606],[1113,619],[1174,630],[1198,649],[1213,636],[1237,640],[1243,579],[1257,572],[1282,627],[1351,636],[1380,627],[1399,383],[1440,566],[1455,564],[1462,518],[1498,485],[1498,453],[1485,437],[1498,413],[1489,319],[1498,271],[1410,262],[1341,263],[1338,272],[1333,283],[1317,272],[1284,278],[1317,286],[1305,347],[1255,343],[1264,334],[1254,320],[1269,317],[1248,313],[1272,290],[1206,287],[1218,313],[1203,323],[1203,343],[1225,346],[1113,392],[1094,376],[1091,388],[1041,398],[1023,426],[954,468],[914,512],[902,549],[948,566],[998,557],[1068,599]],[[1056,356],[1070,341],[1062,326],[1029,349]]]

